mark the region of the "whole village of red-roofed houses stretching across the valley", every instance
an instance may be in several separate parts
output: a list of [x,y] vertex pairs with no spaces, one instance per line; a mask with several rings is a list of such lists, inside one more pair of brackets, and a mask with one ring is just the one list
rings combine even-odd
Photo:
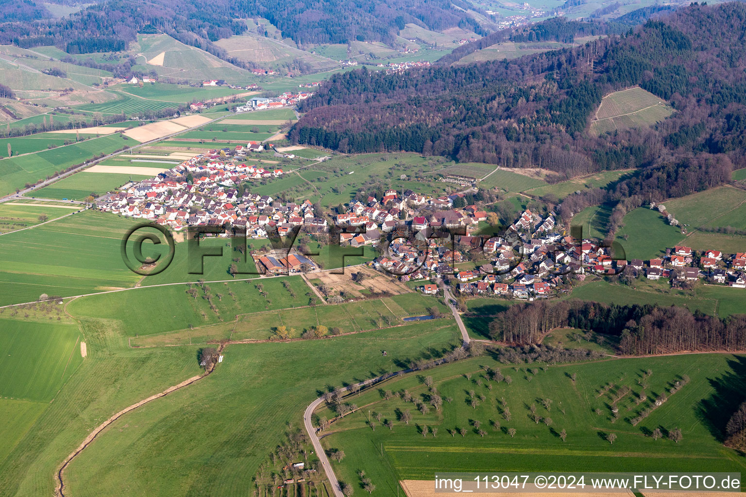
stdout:
[[[437,293],[438,285],[450,285],[464,296],[533,300],[566,293],[574,281],[582,282],[588,275],[665,278],[680,288],[699,279],[746,288],[746,253],[726,256],[707,250],[697,257],[691,248],[681,246],[648,262],[615,259],[611,247],[565,234],[568,230],[557,224],[554,212],[542,216],[526,209],[507,229],[483,234],[495,229],[496,217],[487,206],[464,206],[466,194],[474,189],[440,197],[389,189],[381,198],[348,203],[344,212],[337,208],[336,214],[309,199],[294,202],[253,194],[251,182],[284,174],[280,168],[242,162],[247,152],[263,150],[263,144],[251,142],[203,153],[158,177],[99,197],[95,206],[175,232],[224,227],[220,236],[225,237],[239,230],[253,239],[295,238],[302,230],[328,243],[333,227],[340,245],[374,248],[376,256],[367,265],[401,282],[423,280],[419,289],[425,294]],[[321,269],[295,249],[252,256],[257,268],[270,275]]]

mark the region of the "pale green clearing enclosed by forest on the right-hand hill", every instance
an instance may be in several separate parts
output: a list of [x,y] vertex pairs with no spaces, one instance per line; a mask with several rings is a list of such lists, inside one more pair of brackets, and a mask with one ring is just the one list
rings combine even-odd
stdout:
[[630,127],[652,126],[672,113],[674,110],[665,100],[636,86],[606,95],[590,131],[600,135]]

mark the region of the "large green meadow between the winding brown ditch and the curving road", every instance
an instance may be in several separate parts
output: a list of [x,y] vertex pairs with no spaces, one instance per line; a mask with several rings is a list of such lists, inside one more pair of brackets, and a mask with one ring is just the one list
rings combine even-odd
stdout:
[[[456,347],[452,321],[444,324],[230,345],[215,373],[125,415],[100,434],[67,469],[69,492],[172,496],[207,486],[221,496],[245,496],[260,464],[284,434],[301,427],[302,412],[319,392]],[[189,347],[148,350],[170,349]]]

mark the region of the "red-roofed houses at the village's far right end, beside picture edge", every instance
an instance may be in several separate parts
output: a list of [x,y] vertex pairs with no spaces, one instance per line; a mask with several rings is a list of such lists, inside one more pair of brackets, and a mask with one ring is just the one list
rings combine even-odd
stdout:
[[746,288],[746,253],[726,256],[720,250],[704,250],[699,255],[692,247],[677,245],[667,249],[660,259],[650,259],[647,264],[641,259],[632,259],[630,267],[645,270],[648,279],[671,279],[677,282],[706,279],[712,283],[726,284],[735,288]]

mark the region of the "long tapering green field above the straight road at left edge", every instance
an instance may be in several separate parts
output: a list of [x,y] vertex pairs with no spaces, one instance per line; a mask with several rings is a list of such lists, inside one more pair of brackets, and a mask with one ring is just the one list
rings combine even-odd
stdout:
[[25,183],[43,180],[71,165],[90,160],[98,153],[111,153],[125,146],[137,145],[133,139],[125,140],[120,134],[78,142],[66,147],[30,153],[0,160],[0,195],[22,189]]

